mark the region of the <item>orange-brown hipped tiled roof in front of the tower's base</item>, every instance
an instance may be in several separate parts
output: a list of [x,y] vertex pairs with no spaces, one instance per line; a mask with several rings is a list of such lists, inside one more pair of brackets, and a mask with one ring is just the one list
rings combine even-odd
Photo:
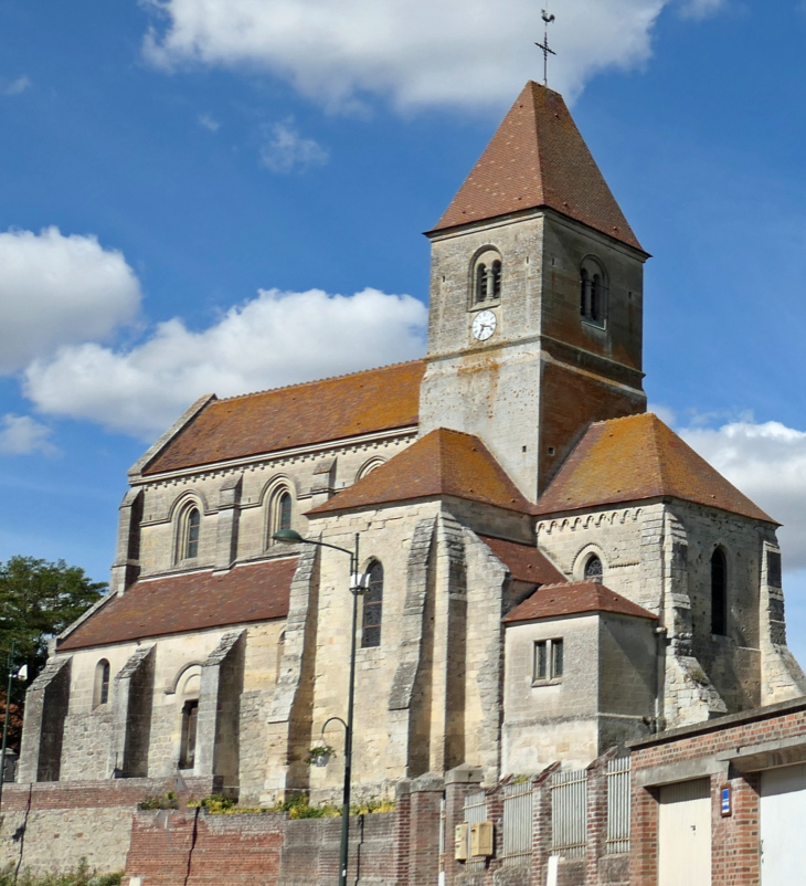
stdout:
[[532,507],[477,436],[438,428],[308,516],[437,495],[522,513]]

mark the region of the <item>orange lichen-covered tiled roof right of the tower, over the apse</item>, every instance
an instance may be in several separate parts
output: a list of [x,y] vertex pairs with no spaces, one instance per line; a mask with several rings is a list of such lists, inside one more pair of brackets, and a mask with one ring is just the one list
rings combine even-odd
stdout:
[[592,424],[541,496],[537,513],[659,496],[774,523],[651,412]]

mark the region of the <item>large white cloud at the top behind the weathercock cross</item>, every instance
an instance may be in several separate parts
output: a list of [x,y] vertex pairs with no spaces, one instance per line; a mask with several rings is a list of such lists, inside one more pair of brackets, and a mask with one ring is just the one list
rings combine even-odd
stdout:
[[[717,0],[683,0],[701,12]],[[598,71],[651,54],[653,27],[678,0],[553,3],[550,82],[570,98]],[[149,0],[144,43],[157,65],[267,71],[315,101],[350,107],[362,95],[397,108],[500,107],[542,72],[534,0]],[[545,3],[543,4],[545,6]]]

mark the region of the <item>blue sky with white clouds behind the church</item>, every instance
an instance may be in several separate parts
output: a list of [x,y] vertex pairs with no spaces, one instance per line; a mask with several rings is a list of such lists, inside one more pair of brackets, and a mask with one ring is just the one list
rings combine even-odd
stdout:
[[[655,256],[650,401],[786,524],[806,652],[806,8],[551,11]],[[420,354],[421,232],[541,38],[530,0],[0,0],[0,558],[105,579],[126,468],[198,394]]]

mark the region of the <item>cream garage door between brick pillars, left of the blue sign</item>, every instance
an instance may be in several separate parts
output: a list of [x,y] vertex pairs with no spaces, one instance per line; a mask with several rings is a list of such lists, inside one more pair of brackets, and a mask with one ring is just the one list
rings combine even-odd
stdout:
[[658,813],[658,886],[711,886],[711,780],[661,788]]

